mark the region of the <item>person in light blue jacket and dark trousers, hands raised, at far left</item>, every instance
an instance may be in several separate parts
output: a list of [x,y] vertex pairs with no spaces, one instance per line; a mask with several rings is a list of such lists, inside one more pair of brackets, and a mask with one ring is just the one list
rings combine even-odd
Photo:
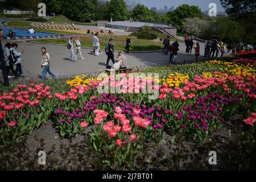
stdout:
[[22,50],[22,52],[18,52],[16,51],[17,47],[18,47],[18,44],[13,43],[11,44],[11,48],[10,48],[11,59],[13,59],[13,62],[16,65],[15,74],[13,78],[16,78],[18,73],[20,74],[21,77],[24,77],[24,75],[22,74],[22,65],[21,65],[22,58],[20,57],[24,52],[24,50]]

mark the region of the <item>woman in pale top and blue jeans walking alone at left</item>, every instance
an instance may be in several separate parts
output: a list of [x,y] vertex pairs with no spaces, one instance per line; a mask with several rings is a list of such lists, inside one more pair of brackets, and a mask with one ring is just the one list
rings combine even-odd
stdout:
[[49,57],[49,53],[46,51],[45,47],[41,48],[42,51],[42,55],[43,55],[43,59],[41,61],[41,67],[43,68],[43,72],[42,72],[42,81],[46,80],[46,74],[47,72],[49,73],[49,75],[53,78],[56,79],[56,76],[51,72],[51,70],[49,69],[50,65],[49,65],[49,61],[50,61],[50,57]]

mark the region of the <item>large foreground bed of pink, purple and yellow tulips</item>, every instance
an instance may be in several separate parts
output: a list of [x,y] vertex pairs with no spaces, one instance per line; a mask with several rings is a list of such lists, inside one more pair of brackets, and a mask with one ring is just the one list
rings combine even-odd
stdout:
[[[173,142],[176,136],[204,142],[236,113],[245,119],[237,124],[244,127],[246,140],[255,142],[255,60],[212,60],[157,73],[77,76],[60,87],[18,85],[0,96],[0,142],[31,134],[52,116],[61,137],[86,134],[95,152],[105,154],[106,146],[114,150],[102,163],[114,168],[117,160],[118,166],[131,168],[134,161],[127,159],[139,150],[139,139],[160,144],[159,136],[168,131]],[[119,91],[99,93],[104,85],[105,91]],[[148,85],[159,91],[155,100],[148,99],[152,93],[142,93]]]

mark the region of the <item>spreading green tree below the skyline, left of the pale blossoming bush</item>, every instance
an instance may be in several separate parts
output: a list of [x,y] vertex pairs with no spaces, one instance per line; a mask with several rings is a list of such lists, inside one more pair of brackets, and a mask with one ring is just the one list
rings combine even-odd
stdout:
[[189,6],[187,4],[181,5],[175,9],[175,11],[169,11],[166,14],[168,23],[171,23],[177,28],[179,34],[184,34],[183,22],[185,18],[198,17],[203,19],[203,13],[198,6]]

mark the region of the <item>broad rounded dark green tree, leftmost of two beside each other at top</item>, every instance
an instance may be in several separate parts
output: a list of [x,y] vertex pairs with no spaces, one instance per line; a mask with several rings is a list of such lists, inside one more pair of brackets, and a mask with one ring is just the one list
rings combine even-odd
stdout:
[[77,22],[90,22],[95,19],[96,7],[88,0],[65,0],[63,14]]

